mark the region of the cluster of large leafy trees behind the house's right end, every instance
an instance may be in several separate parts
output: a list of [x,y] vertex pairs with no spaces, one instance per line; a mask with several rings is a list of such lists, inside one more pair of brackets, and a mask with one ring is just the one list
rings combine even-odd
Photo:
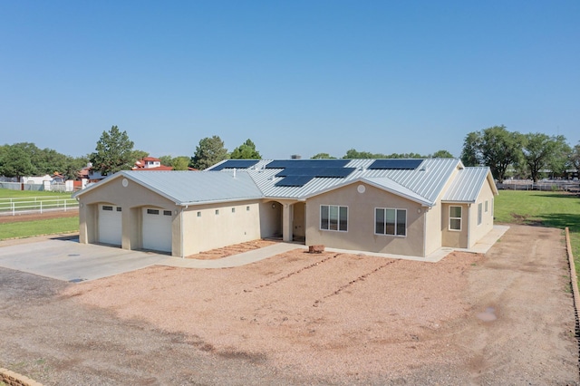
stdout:
[[537,182],[546,172],[565,177],[568,170],[580,170],[580,144],[571,147],[563,135],[522,134],[504,125],[493,126],[468,133],[461,161],[465,166],[489,167],[498,182],[508,172]]

